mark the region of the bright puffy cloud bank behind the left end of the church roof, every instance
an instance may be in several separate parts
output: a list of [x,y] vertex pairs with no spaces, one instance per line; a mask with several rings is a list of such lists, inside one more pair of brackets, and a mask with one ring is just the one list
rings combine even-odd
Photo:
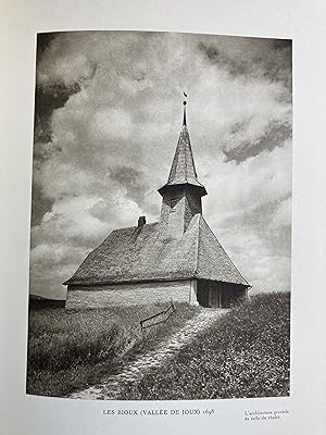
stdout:
[[[34,294],[64,297],[62,283],[89,251],[116,226],[136,224],[138,206],[114,192],[106,198],[65,197],[32,228],[30,289]],[[133,222],[134,221],[134,222]]]

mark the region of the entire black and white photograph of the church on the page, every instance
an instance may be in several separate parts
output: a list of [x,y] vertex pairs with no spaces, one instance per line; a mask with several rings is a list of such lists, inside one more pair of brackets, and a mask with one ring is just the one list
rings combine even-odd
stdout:
[[292,41],[39,33],[26,393],[287,397]]

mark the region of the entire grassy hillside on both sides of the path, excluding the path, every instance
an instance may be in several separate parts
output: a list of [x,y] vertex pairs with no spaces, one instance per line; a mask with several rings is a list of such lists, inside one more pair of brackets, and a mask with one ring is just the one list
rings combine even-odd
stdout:
[[[162,306],[83,312],[52,309],[29,319],[27,393],[64,396],[118,373],[181,328],[200,308],[177,306],[142,340],[139,321]],[[252,296],[181,348],[121,399],[168,400],[289,395],[290,295]]]

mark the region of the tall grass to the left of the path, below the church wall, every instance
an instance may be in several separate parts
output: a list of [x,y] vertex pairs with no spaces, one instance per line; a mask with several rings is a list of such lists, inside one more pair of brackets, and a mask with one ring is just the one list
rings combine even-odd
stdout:
[[137,353],[153,349],[198,312],[195,307],[177,304],[168,322],[150,328],[143,340],[139,321],[164,308],[30,312],[27,393],[62,397],[100,382]]

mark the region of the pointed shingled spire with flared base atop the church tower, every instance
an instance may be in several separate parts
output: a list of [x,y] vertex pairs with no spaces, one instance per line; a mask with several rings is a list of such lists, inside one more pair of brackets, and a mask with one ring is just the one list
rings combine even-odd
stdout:
[[199,183],[197,172],[195,167],[195,161],[190,145],[190,137],[187,127],[187,114],[186,114],[187,101],[184,101],[184,121],[183,127],[177,142],[176,151],[172,162],[170,175],[166,184],[159,189],[159,192],[163,196],[168,186],[176,185],[191,185],[197,187],[200,196],[206,195],[206,189],[202,184]]

